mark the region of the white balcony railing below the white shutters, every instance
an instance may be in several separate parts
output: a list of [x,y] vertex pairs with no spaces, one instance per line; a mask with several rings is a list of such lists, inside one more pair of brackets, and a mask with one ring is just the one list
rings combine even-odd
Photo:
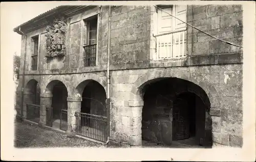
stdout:
[[154,60],[186,57],[186,29],[159,34],[156,37],[156,53]]

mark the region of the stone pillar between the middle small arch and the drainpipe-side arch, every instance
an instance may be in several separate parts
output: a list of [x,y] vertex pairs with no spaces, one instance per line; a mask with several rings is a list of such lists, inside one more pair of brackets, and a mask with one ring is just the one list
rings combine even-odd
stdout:
[[81,110],[81,97],[67,97],[68,101],[68,129],[67,134],[69,137],[75,136],[76,133],[76,117],[75,112]]

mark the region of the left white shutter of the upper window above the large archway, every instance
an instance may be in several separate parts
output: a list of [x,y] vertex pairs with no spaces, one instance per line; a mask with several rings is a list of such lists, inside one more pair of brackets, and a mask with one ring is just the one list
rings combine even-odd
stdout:
[[172,14],[172,11],[173,7],[158,10],[158,34],[172,31],[173,16],[169,15]]

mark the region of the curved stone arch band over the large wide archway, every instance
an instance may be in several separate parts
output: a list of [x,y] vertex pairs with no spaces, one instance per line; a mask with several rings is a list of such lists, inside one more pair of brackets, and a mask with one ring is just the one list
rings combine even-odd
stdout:
[[[208,102],[212,103],[212,98],[218,96],[218,92],[214,88],[214,86],[207,80],[204,76],[200,74],[193,74],[191,75],[189,70],[183,70],[183,69],[161,69],[161,70],[155,70],[153,72],[148,71],[147,73],[143,74],[141,77],[139,77],[134,85],[137,87],[137,94],[140,94],[140,97],[143,98],[143,88],[144,86],[148,85],[149,83],[157,82],[158,80],[164,79],[164,78],[170,78],[170,77],[176,77],[180,79],[184,79],[190,83],[194,83],[196,86],[200,87],[202,89],[202,93],[205,93],[208,96]],[[189,91],[193,91],[192,89],[189,89]],[[195,93],[195,92],[194,92]],[[206,99],[202,98],[206,101]],[[219,105],[219,100],[216,100]],[[206,102],[207,103],[207,102]],[[209,104],[208,103],[208,104]],[[208,105],[210,108],[210,105]]]

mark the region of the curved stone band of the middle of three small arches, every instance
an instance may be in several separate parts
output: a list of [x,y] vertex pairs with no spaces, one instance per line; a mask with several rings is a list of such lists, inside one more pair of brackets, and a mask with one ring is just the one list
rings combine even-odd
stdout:
[[62,76],[58,76],[58,75],[50,76],[47,79],[47,82],[45,84],[42,84],[41,93],[51,94],[52,90],[53,90],[53,87],[59,82],[61,82],[65,85],[65,87],[67,88],[67,91],[68,91],[68,95],[69,95],[70,92],[71,92],[70,83],[67,80],[63,79]]

